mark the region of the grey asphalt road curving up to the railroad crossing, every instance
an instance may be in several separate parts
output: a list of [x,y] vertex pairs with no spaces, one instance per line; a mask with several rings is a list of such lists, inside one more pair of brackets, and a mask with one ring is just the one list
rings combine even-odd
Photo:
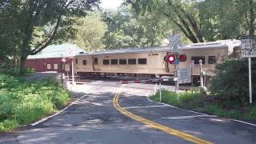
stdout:
[[0,134],[0,143],[256,143],[256,126],[150,102],[154,85],[95,81],[74,90],[83,97],[72,106]]

